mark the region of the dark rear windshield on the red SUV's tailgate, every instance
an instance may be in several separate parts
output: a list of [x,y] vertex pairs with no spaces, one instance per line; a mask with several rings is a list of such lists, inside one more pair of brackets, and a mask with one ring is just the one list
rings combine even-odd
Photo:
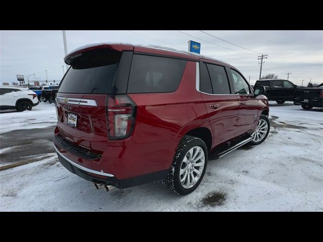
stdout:
[[77,58],[60,85],[62,93],[113,93],[121,52],[110,49],[88,51]]

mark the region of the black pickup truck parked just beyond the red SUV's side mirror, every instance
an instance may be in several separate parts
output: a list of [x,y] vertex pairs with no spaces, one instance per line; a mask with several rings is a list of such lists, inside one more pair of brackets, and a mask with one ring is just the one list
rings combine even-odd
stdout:
[[257,89],[257,86],[264,86],[268,100],[276,101],[279,104],[294,101],[295,93],[298,89],[294,83],[282,79],[258,80],[254,84],[254,89]]

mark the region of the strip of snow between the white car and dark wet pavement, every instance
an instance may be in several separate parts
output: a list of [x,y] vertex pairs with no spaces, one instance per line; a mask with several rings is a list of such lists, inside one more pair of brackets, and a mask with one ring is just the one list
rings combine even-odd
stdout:
[[54,103],[41,102],[31,111],[0,111],[0,134],[13,130],[46,128],[56,125],[56,123],[57,115]]

